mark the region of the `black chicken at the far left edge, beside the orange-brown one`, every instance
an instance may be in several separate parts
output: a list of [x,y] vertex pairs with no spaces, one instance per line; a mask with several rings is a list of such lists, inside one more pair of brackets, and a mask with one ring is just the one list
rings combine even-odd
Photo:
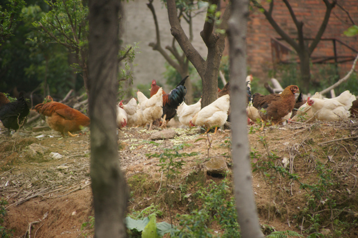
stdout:
[[[1,93],[2,94],[2,93]],[[1,102],[6,102],[3,98],[5,95],[1,95]],[[20,94],[19,98],[15,102],[8,102],[0,106],[0,120],[2,124],[8,129],[7,134],[10,134],[10,129],[17,130],[20,125],[23,124],[25,118],[30,113],[30,110],[26,104],[23,94]]]

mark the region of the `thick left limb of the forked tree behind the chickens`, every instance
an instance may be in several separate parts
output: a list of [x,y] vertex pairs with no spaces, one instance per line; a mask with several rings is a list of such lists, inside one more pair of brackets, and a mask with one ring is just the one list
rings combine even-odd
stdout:
[[205,60],[200,56],[197,50],[193,47],[182,29],[179,19],[177,17],[177,6],[175,0],[167,0],[168,18],[171,25],[171,33],[176,38],[180,48],[183,50],[185,56],[194,65],[199,75],[205,73]]

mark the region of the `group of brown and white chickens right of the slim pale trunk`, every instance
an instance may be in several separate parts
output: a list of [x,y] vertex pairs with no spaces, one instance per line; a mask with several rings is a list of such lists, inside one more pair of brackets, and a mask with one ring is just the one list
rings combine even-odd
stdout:
[[290,85],[280,94],[257,95],[252,97],[252,106],[246,111],[252,121],[271,121],[272,124],[287,121],[340,121],[358,116],[358,101],[349,90],[335,98],[323,98],[315,93],[307,100],[302,99],[298,87]]

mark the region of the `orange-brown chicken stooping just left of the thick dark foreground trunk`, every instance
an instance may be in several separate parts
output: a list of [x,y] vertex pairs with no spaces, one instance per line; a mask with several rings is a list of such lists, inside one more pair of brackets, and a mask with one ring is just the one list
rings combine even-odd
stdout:
[[73,109],[65,104],[54,102],[50,96],[46,97],[49,102],[40,103],[33,107],[33,110],[40,115],[46,116],[48,125],[56,131],[61,132],[62,136],[68,134],[77,136],[71,132],[79,131],[84,126],[89,126],[90,120],[80,111]]

